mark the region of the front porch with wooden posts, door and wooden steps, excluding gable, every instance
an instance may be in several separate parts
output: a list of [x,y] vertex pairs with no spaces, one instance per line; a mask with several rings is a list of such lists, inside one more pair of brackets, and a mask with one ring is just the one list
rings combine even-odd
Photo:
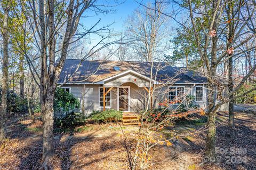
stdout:
[[[140,125],[140,118],[137,114],[139,111],[145,109],[146,102],[149,100],[149,108],[153,108],[153,88],[146,86],[138,86],[134,82],[126,82],[120,86],[106,86],[103,85],[103,111],[106,110],[106,96],[109,95],[111,100],[109,102],[111,109],[116,109],[123,112],[123,125]],[[148,94],[151,93],[148,99]],[[145,102],[145,103],[143,103]]]

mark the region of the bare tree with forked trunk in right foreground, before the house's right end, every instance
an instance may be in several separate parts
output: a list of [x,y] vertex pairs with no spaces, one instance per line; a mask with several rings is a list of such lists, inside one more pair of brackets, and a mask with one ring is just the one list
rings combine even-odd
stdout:
[[[215,116],[216,116],[216,112],[219,109],[219,107],[229,101],[229,100],[234,100],[234,98],[232,97],[232,95],[244,84],[245,80],[250,77],[250,75],[252,74],[252,72],[255,70],[256,66],[254,66],[249,73],[241,80],[241,83],[236,86],[234,88],[234,90],[231,90],[228,95],[227,98],[228,99],[223,99],[220,103],[216,103],[216,96],[217,96],[217,91],[220,91],[220,88],[218,87],[218,80],[216,79],[217,76],[217,67],[219,66],[219,64],[221,64],[222,62],[225,61],[225,59],[229,59],[229,58],[225,58],[226,55],[229,55],[229,57],[234,56],[234,55],[230,55],[233,54],[235,49],[238,49],[239,46],[244,45],[246,42],[250,41],[250,39],[252,39],[255,34],[252,33],[251,31],[248,33],[247,30],[244,29],[245,25],[246,25],[246,20],[249,19],[251,17],[251,15],[248,15],[246,20],[243,20],[243,22],[238,25],[236,24],[235,27],[238,27],[236,29],[236,31],[233,33],[234,30],[230,30],[230,33],[233,33],[234,37],[232,37],[231,39],[228,39],[229,43],[227,48],[221,48],[222,44],[222,40],[221,40],[221,35],[225,34],[223,32],[225,32],[227,25],[221,25],[221,18],[223,16],[223,9],[226,5],[226,3],[228,3],[227,1],[213,1],[212,4],[208,7],[205,7],[205,9],[202,11],[202,9],[198,9],[193,3],[191,3],[190,0],[188,0],[188,6],[189,6],[189,17],[190,17],[190,21],[191,24],[193,26],[193,31],[194,31],[194,36],[197,39],[197,48],[198,48],[198,52],[201,56],[201,59],[203,61],[204,64],[204,68],[205,68],[205,75],[208,79],[207,82],[207,88],[208,88],[208,96],[207,96],[207,101],[208,101],[208,106],[207,106],[207,115],[208,115],[208,123],[207,126],[209,127],[209,130],[207,132],[207,141],[206,141],[206,155],[209,156],[210,160],[212,162],[214,162],[215,159],[215,143],[216,143],[216,139],[215,139],[215,135],[216,135],[216,125],[215,125]],[[238,5],[242,4],[241,3],[237,3]],[[237,7],[235,12],[240,12],[241,7]],[[253,8],[253,11],[255,10],[255,6]],[[202,29],[198,31],[198,27],[196,25],[197,21],[195,20],[195,12],[198,11],[199,14],[202,15],[207,15],[209,16],[209,18],[211,18],[209,25],[206,25],[206,27],[203,25],[203,20],[201,21],[201,27]],[[198,15],[198,14],[197,14]],[[228,20],[227,23],[229,22],[234,22],[233,20]],[[200,22],[199,22],[200,23]],[[232,27],[230,27],[232,28]],[[247,33],[247,36],[245,38],[242,38],[242,35]],[[203,34],[203,38],[201,37]],[[201,36],[199,36],[201,35]],[[236,43],[238,38],[241,39],[241,42]],[[202,45],[202,39],[204,39],[203,41],[203,45]],[[210,44],[211,42],[211,44]],[[220,45],[220,46],[219,46]],[[208,49],[210,47],[210,57],[208,54]],[[252,48],[254,49],[254,48]],[[255,50],[255,49],[254,49]],[[237,52],[237,54],[239,53],[244,53],[244,52]],[[236,55],[237,55],[236,54]],[[229,61],[231,64],[231,60]],[[230,67],[230,71],[231,71],[231,67]],[[230,72],[231,74],[231,72]],[[232,75],[231,75],[232,76]],[[230,89],[232,88],[231,83],[229,84]],[[231,97],[230,97],[231,96]],[[226,100],[226,101],[225,101]],[[232,102],[232,101],[231,101]]]

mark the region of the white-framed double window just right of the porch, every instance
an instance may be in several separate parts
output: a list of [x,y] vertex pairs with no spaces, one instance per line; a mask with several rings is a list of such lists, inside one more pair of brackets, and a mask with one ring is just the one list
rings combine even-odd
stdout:
[[169,103],[177,104],[182,100],[182,96],[185,93],[185,87],[169,87],[168,100]]

